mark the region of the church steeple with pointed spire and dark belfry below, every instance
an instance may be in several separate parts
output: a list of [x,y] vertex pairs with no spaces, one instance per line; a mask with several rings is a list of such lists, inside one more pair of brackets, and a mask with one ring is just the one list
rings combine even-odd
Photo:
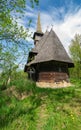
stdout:
[[42,36],[43,36],[43,32],[42,32],[42,28],[41,28],[40,12],[39,12],[38,13],[38,18],[37,18],[36,32],[34,32],[34,35],[33,35],[34,44],[37,44]]

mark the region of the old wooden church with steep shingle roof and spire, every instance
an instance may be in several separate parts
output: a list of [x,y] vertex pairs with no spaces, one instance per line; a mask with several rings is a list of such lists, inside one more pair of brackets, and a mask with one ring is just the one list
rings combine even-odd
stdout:
[[29,52],[24,68],[28,77],[36,82],[68,82],[68,68],[74,64],[53,29],[42,32],[40,14],[33,40],[34,48]]

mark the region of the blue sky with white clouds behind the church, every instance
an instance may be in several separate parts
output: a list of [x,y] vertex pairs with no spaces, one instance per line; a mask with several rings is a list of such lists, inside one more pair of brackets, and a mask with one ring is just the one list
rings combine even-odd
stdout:
[[[29,4],[24,11],[24,18],[18,19],[18,24],[27,28],[29,18],[32,19],[30,31],[36,31],[38,10],[40,8],[42,31],[45,32],[47,26],[53,30],[60,38],[66,51],[75,34],[81,34],[81,0],[39,0],[39,7],[32,9]],[[32,39],[28,39],[33,43]]]

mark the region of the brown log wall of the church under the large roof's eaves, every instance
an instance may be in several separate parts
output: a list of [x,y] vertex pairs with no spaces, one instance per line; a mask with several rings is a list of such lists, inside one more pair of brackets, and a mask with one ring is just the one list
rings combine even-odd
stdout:
[[40,82],[59,82],[68,81],[68,65],[60,62],[48,62],[40,64],[38,81]]

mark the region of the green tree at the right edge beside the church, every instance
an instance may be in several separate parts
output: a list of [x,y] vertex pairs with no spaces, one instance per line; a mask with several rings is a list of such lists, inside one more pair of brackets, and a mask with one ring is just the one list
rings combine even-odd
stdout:
[[75,66],[71,71],[71,75],[81,78],[81,35],[75,35],[71,41],[69,50]]

